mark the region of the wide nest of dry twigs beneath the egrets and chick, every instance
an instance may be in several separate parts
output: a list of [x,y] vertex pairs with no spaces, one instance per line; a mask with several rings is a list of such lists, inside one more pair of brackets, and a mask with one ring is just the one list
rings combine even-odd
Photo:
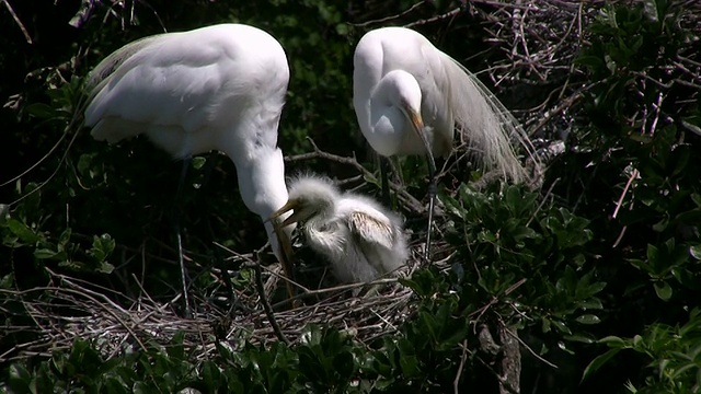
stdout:
[[[294,344],[301,340],[310,324],[343,329],[359,343],[370,343],[397,332],[415,304],[411,289],[398,278],[388,278],[315,290],[297,285],[295,298],[271,305],[275,293],[285,289],[280,265],[262,266],[252,262],[250,255],[235,254],[232,259],[244,267],[254,267],[255,286],[233,289],[229,311],[216,306],[212,300],[196,300],[205,308],[195,308],[189,317],[179,312],[181,296],[170,302],[158,302],[142,291],[131,299],[47,268],[49,286],[0,290],[3,298],[0,309],[7,316],[28,315],[33,322],[5,325],[5,339],[22,334],[32,340],[7,349],[0,360],[49,357],[53,351],[70,349],[76,338],[92,343],[105,358],[112,358],[126,350],[146,350],[146,344],[171,343],[176,334],[183,335],[183,345],[194,355],[206,359],[216,351],[217,343],[233,350],[245,343]],[[400,276],[411,269],[407,267]],[[214,274],[221,273],[215,269]]]

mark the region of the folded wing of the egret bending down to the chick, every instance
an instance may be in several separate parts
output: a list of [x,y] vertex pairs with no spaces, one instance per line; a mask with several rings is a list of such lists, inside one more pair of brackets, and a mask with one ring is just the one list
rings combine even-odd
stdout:
[[211,43],[188,45],[187,38],[180,33],[156,36],[107,58],[96,68],[103,79],[92,92],[85,124],[118,117],[193,130],[211,120],[228,59]]

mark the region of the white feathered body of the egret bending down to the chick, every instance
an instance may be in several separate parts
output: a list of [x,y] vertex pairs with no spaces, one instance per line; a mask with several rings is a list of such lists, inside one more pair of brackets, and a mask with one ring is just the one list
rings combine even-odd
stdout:
[[176,125],[185,132],[226,127],[246,107],[237,105],[241,100],[260,90],[284,96],[288,79],[279,43],[255,27],[228,24],[162,34],[125,46],[95,68],[91,80],[100,82],[85,124],[114,117]]

